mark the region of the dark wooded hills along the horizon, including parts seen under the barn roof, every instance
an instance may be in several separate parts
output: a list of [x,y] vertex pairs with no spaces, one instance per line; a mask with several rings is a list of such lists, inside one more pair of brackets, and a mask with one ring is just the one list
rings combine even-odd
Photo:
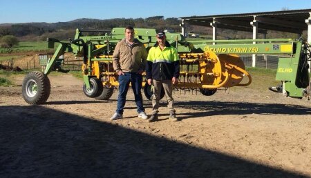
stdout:
[[[47,37],[60,40],[73,38],[75,29],[111,30],[115,27],[133,26],[134,28],[154,28],[156,30],[170,30],[180,32],[181,19],[155,16],[138,19],[76,19],[57,23],[12,23],[0,24],[0,42],[5,36],[16,37],[18,41],[45,41]],[[211,35],[210,27],[187,25],[187,31],[197,34]],[[280,36],[280,34],[282,36]],[[296,38],[296,34],[268,31],[268,38]],[[236,30],[218,30],[218,39],[252,39],[251,32]]]

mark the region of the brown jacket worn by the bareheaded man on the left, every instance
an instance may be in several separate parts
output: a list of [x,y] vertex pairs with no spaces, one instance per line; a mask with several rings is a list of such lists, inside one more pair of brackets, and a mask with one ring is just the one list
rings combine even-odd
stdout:
[[138,39],[134,40],[133,45],[130,47],[125,39],[122,39],[115,46],[113,52],[113,69],[115,72],[138,72],[144,70],[148,53],[144,44]]

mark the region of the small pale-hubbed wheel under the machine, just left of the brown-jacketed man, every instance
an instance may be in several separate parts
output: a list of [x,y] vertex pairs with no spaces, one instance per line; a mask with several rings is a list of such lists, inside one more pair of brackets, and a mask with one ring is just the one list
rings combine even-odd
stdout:
[[102,81],[96,77],[90,79],[90,89],[86,88],[86,84],[83,84],[83,92],[86,97],[95,98],[102,94]]

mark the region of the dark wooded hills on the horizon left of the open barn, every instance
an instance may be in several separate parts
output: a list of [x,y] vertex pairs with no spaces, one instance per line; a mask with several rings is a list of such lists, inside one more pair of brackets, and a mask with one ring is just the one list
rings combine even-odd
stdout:
[[180,31],[178,18],[164,19],[163,16],[149,17],[146,19],[75,19],[57,23],[2,23],[0,24],[0,37],[14,35],[20,41],[41,41],[46,37],[68,39],[73,37],[75,29],[101,29],[111,30],[115,27],[134,26],[135,28],[156,28],[157,30]]

